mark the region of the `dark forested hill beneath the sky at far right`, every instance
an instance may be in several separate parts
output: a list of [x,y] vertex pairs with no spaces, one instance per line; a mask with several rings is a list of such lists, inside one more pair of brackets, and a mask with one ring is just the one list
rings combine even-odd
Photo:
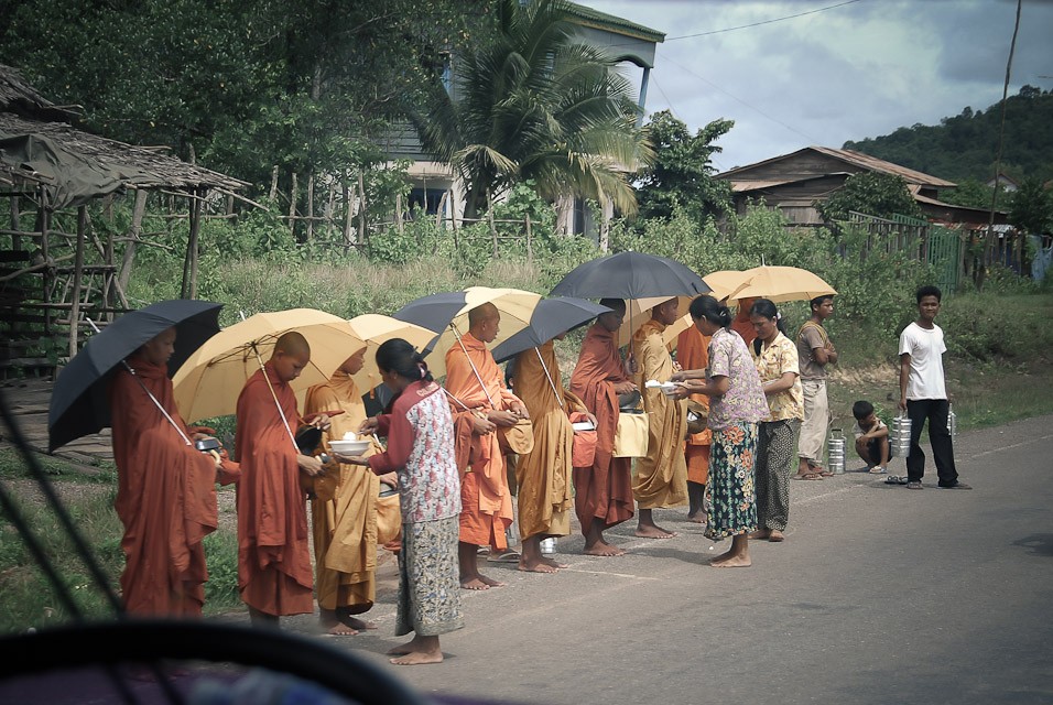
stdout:
[[[954,182],[985,183],[994,176],[1000,123],[1001,101],[987,110],[966,108],[940,124],[845,142],[845,149]],[[1007,99],[1001,172],[1018,181],[1053,178],[1053,90],[1024,86]]]

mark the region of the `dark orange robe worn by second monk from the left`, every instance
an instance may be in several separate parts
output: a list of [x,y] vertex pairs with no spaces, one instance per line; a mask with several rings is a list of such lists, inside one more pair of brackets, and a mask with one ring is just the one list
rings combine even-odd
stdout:
[[[274,394],[295,433],[296,394],[265,366]],[[238,397],[235,447],[238,484],[238,589],[246,605],[273,615],[314,611],[307,505],[296,448],[278,412],[263,370]]]

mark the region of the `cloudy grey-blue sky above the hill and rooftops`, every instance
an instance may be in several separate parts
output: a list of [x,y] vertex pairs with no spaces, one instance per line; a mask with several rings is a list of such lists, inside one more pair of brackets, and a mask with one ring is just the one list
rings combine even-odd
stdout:
[[[735,120],[717,142],[718,171],[987,109],[1002,96],[1017,10],[1016,0],[578,1],[665,33],[648,113],[671,109],[693,133]],[[1009,95],[1025,84],[1053,88],[1053,0],[1023,1]]]

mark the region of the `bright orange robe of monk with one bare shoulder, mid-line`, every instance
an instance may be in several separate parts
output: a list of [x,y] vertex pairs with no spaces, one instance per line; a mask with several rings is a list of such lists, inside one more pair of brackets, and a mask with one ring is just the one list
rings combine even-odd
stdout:
[[[486,391],[476,372],[482,378]],[[504,386],[504,375],[493,361],[490,349],[470,333],[446,351],[446,390],[464,404],[450,400],[457,467],[464,473],[460,478],[460,541],[504,551],[508,549],[504,531],[514,517],[504,454],[497,433],[477,436],[466,432],[470,412],[466,412],[465,406],[481,412],[507,411],[520,400]],[[465,448],[467,444],[470,444],[470,449]]]

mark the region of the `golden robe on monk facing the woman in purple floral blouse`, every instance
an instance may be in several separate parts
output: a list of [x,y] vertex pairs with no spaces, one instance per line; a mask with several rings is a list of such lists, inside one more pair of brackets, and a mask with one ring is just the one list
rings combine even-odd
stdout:
[[662,334],[665,326],[651,318],[632,334],[632,355],[640,366],[637,387],[643,393],[648,414],[648,454],[637,460],[632,494],[640,509],[661,509],[687,503],[687,402],[647,389],[644,382],[667,382],[675,369]]

